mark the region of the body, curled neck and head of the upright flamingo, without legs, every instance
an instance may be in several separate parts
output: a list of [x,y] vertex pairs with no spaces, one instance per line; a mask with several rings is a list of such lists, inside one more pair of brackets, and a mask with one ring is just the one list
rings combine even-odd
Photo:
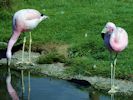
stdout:
[[[128,45],[128,35],[127,32],[121,27],[113,27],[111,22],[108,22],[103,29],[104,43],[109,51],[121,52]],[[106,30],[106,31],[105,31]],[[112,30],[110,32],[110,30]]]

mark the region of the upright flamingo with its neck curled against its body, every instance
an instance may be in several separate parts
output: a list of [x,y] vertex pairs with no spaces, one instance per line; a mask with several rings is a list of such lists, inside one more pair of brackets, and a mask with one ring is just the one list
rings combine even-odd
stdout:
[[[118,89],[118,87],[114,84],[117,55],[127,47],[128,34],[123,28],[116,27],[116,25],[112,22],[107,22],[101,33],[102,38],[104,39],[104,44],[110,51],[111,89],[108,93],[112,94],[116,93]],[[114,59],[112,58],[112,52],[115,53]]]

